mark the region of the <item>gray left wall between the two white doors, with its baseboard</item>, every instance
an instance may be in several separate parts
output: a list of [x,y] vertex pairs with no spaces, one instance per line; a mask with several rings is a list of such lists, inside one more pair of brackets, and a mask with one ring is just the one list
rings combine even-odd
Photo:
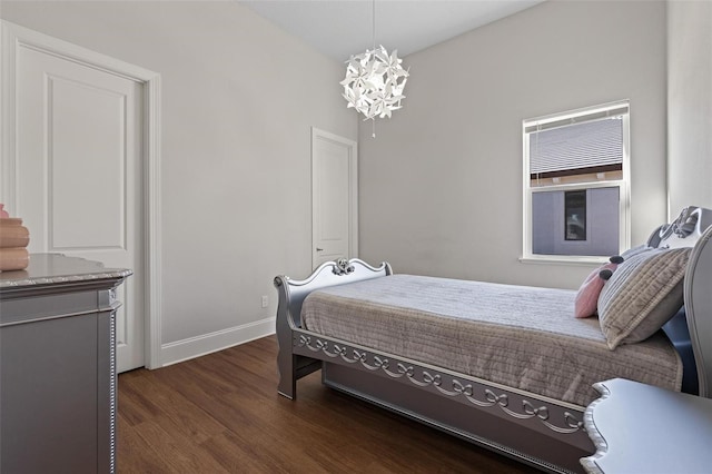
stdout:
[[273,278],[312,269],[310,127],[357,139],[343,65],[231,1],[3,1],[0,16],[161,73],[171,357],[273,332]]

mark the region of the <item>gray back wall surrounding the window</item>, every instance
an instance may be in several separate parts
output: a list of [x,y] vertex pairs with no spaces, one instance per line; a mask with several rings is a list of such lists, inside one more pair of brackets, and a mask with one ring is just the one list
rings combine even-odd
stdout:
[[523,264],[522,120],[630,99],[632,244],[666,218],[665,3],[547,1],[405,58],[404,108],[359,129],[360,255],[398,273],[577,287]]

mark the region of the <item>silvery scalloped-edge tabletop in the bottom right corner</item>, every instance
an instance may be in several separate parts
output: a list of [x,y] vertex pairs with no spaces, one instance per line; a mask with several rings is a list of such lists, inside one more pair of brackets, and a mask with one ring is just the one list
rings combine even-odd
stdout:
[[596,452],[591,474],[712,472],[712,399],[624,378],[600,382],[601,398],[584,413]]

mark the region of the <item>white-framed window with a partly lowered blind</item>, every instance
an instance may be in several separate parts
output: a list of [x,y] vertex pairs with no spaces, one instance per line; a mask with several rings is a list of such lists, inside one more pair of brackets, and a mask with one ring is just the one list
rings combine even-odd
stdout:
[[627,101],[523,121],[524,259],[627,248],[629,121]]

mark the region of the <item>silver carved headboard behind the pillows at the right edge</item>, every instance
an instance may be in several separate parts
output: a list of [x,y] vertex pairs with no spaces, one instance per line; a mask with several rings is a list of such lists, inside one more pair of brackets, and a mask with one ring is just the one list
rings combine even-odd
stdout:
[[[696,374],[684,384],[698,386],[700,396],[712,398],[712,210],[689,206],[672,223],[659,227],[647,245],[659,248],[691,247],[684,280],[684,312],[663,327],[690,367],[680,344],[694,357]],[[689,340],[688,340],[689,334]],[[694,377],[696,375],[696,377]],[[696,379],[694,379],[696,378]]]

